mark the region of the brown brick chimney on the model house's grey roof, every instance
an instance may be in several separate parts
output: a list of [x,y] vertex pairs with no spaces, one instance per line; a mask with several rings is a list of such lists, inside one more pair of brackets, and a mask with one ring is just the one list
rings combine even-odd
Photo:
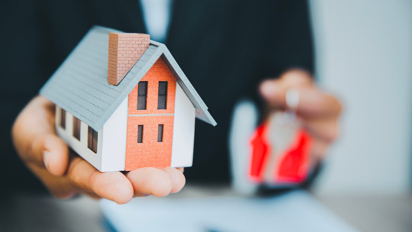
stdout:
[[118,85],[150,45],[150,35],[109,33],[107,82]]

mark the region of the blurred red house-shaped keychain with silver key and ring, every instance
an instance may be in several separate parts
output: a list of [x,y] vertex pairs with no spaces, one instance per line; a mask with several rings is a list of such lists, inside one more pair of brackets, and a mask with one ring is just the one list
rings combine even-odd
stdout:
[[277,111],[250,139],[250,178],[267,185],[303,182],[311,169],[311,137],[293,112],[299,102],[296,90],[286,94],[288,110]]

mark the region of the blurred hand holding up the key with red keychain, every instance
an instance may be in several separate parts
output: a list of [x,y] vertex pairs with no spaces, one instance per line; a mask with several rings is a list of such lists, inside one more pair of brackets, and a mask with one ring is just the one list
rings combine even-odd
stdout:
[[342,106],[335,96],[318,89],[310,74],[300,69],[292,69],[279,79],[265,80],[260,85],[260,93],[269,110],[285,109],[286,91],[290,89],[299,92],[299,104],[295,110],[313,138],[312,154],[322,158],[338,135]]

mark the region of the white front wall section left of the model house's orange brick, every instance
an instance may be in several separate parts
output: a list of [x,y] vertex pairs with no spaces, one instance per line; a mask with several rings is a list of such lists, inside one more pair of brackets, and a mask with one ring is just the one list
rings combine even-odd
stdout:
[[123,171],[126,160],[128,100],[126,97],[103,125],[102,171]]

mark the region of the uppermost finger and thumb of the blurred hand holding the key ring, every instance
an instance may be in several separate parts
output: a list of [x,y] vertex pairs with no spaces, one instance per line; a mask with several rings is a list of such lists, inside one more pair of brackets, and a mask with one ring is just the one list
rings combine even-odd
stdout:
[[[294,88],[299,93],[297,114],[304,118],[336,117],[342,109],[333,96],[315,88],[309,75],[303,71],[291,71],[277,80],[266,80],[260,85],[260,93],[271,107],[286,108],[286,92]],[[299,78],[300,77],[300,78]]]

